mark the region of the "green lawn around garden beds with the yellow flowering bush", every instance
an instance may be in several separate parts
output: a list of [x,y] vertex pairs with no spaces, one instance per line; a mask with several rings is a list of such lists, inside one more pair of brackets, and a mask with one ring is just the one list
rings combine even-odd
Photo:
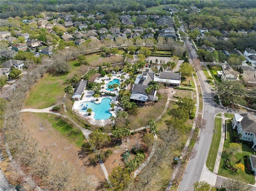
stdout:
[[239,172],[235,173],[223,168],[224,158],[227,158],[227,157],[230,158],[233,165],[235,165],[239,159],[242,159],[241,163],[244,164],[243,156],[246,154],[253,154],[252,148],[250,148],[250,146],[246,143],[239,143],[241,152],[237,152],[236,154],[233,154],[233,155],[229,154],[228,152],[229,143],[233,142],[232,141],[233,132],[230,130],[231,130],[231,120],[228,120],[227,140],[225,140],[224,142],[218,175],[236,179],[239,181],[244,181],[246,183],[254,184],[255,183],[254,175],[247,174],[245,171],[242,171],[241,169],[239,169]]

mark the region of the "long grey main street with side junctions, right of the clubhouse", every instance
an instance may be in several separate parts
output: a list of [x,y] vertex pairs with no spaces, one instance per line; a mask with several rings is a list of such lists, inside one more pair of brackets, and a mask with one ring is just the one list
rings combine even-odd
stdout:
[[[186,48],[191,50],[189,46],[189,40],[184,39]],[[188,51],[190,59],[197,58],[196,50],[192,49]],[[201,65],[203,63],[201,62]],[[223,177],[215,175],[208,171],[206,168],[206,159],[210,149],[210,144],[212,140],[213,130],[214,130],[214,115],[219,112],[227,112],[227,109],[214,103],[212,97],[214,96],[214,89],[210,87],[207,83],[207,79],[203,71],[196,72],[198,80],[201,85],[204,108],[203,108],[203,118],[207,120],[206,128],[200,131],[200,142],[195,144],[194,149],[197,150],[197,155],[194,159],[189,160],[186,167],[186,173],[183,175],[183,179],[178,187],[178,191],[192,191],[194,190],[193,183],[196,181],[205,180],[210,185],[222,185]],[[237,111],[238,112],[238,111]],[[253,190],[256,190],[253,187]]]

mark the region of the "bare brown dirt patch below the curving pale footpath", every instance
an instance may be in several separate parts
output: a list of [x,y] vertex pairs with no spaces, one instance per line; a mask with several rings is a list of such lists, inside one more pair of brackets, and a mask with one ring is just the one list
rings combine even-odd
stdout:
[[96,186],[105,180],[100,165],[95,167],[85,166],[84,161],[87,158],[79,157],[80,148],[71,144],[67,138],[51,126],[48,120],[42,119],[38,117],[38,114],[30,112],[22,113],[22,119],[32,137],[38,141],[40,148],[47,149],[52,154],[54,162],[59,163],[62,160],[66,160],[74,167],[74,177],[90,175],[92,176],[92,182]]

